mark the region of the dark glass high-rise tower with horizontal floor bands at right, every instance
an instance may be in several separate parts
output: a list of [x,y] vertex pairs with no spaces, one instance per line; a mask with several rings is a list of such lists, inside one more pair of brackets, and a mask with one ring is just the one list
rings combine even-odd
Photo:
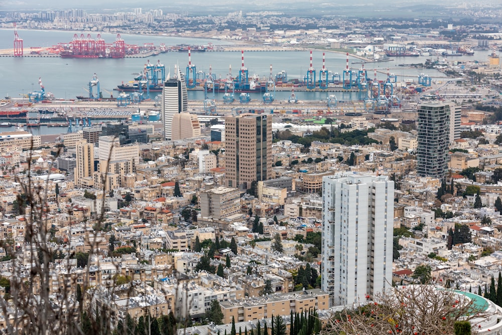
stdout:
[[418,109],[417,173],[444,178],[450,146],[450,104],[427,102]]

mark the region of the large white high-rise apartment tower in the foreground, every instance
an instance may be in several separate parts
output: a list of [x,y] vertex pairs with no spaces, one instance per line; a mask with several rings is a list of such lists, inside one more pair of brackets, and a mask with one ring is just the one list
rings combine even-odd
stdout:
[[323,178],[322,290],[330,306],[366,301],[392,286],[394,182],[339,173]]

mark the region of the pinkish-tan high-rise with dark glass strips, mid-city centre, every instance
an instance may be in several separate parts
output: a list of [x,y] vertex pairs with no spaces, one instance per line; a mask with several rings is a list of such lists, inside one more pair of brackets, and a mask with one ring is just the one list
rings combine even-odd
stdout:
[[225,118],[225,185],[241,190],[272,172],[272,118],[242,114]]

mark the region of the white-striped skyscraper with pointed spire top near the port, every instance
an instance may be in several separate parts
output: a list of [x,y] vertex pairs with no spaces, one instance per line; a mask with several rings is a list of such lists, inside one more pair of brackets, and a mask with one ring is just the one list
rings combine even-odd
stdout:
[[188,94],[185,77],[175,66],[175,76],[164,83],[162,90],[162,118],[164,122],[164,140],[173,140],[172,125],[175,114],[188,111]]

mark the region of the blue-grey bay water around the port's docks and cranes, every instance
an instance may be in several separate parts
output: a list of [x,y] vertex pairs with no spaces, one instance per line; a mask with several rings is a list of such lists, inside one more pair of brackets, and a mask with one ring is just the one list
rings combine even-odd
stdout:
[[[29,52],[30,46],[51,46],[58,42],[69,42],[74,32],[63,31],[20,31],[20,37],[23,38],[25,53]],[[80,32],[78,33],[80,34]],[[85,33],[87,34],[87,33]],[[91,34],[95,38],[96,33]],[[114,34],[101,34],[106,43],[114,40]],[[209,42],[217,44],[231,44],[231,41],[210,40],[210,39],[187,39],[172,36],[146,36],[146,35],[122,35],[122,38],[129,44],[166,43],[166,45],[190,44],[207,45]],[[0,30],[0,48],[12,48],[13,31]],[[11,41],[11,42],[9,42]],[[285,49],[287,50],[287,49]],[[462,56],[462,60],[486,61],[488,51],[476,51],[474,56]],[[433,78],[440,80],[445,77],[443,73],[434,69],[407,68],[398,66],[399,64],[423,63],[426,59],[433,56],[420,57],[397,57],[393,61],[381,63],[368,63],[365,65],[368,70],[368,76],[373,77],[372,69],[376,68],[381,72],[377,78],[384,80],[389,72],[395,73],[398,80],[414,79],[420,73],[425,73]],[[168,52],[149,58],[122,58],[122,59],[79,59],[59,57],[0,57],[0,96],[10,95],[19,97],[30,91],[39,90],[38,78],[41,77],[45,90],[54,93],[57,98],[70,99],[77,95],[86,96],[85,91],[88,88],[88,82],[93,73],[97,74],[100,81],[100,88],[103,96],[109,96],[106,92],[113,92],[114,96],[118,92],[113,91],[118,84],[132,80],[136,73],[143,71],[147,61],[156,63],[160,60],[166,66],[167,72],[174,72],[174,66],[178,65],[181,72],[185,72],[188,65],[188,54],[178,52]],[[260,77],[268,78],[270,75],[270,65],[273,66],[273,75],[281,70],[288,73],[288,78],[302,79],[309,68],[310,54],[305,51],[255,51],[244,53],[244,65],[249,71],[249,75],[257,74]],[[349,66],[352,69],[359,69],[360,60],[350,57]],[[229,72],[229,66],[232,68],[232,75],[235,77],[241,67],[241,54],[238,51],[228,52],[198,52],[192,53],[192,64],[196,66],[197,71],[209,72],[212,67],[212,73],[216,78],[225,78]],[[342,73],[346,65],[346,56],[340,53],[325,52],[325,65],[329,71]],[[313,51],[313,66],[319,71],[322,67],[322,51]],[[339,100],[358,99],[358,93],[350,92],[295,92],[297,97],[302,100],[321,100],[328,94],[335,94]],[[276,92],[276,100],[287,99],[290,91]],[[156,94],[152,93],[151,98]],[[212,97],[212,93],[209,93]],[[200,100],[204,98],[203,91],[190,91],[190,99]],[[221,94],[215,96],[220,99]],[[261,99],[260,94],[254,94],[254,99]]]

